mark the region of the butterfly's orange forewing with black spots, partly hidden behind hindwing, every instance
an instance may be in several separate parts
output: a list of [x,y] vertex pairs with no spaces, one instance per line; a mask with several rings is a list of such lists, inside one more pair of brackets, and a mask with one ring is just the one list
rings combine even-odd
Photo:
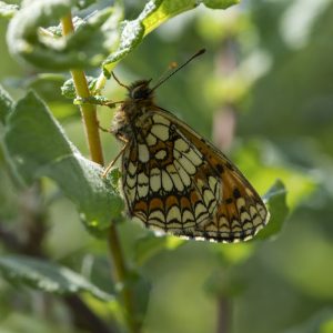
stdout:
[[[163,110],[164,111],[164,110]],[[164,111],[165,112],[165,111]],[[170,113],[165,113],[170,117]],[[235,242],[251,239],[269,221],[269,212],[241,171],[214,145],[174,118],[179,130],[199,149],[222,181],[222,204],[205,230],[208,238]],[[198,235],[200,234],[200,231]]]

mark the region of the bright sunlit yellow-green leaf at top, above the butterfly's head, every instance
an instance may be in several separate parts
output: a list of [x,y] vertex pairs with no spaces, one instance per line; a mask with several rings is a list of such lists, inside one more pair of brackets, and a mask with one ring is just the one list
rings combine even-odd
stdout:
[[135,20],[124,21],[120,34],[118,49],[103,62],[104,72],[110,72],[114,63],[124,58],[143,39],[144,36],[157,29],[167,20],[194,9],[200,3],[214,9],[226,9],[238,3],[238,0],[151,0]]

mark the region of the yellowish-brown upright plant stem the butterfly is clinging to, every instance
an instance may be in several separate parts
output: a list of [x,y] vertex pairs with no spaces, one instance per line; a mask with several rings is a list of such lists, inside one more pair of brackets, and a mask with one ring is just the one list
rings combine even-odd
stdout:
[[[61,24],[63,36],[70,34],[74,31],[71,14],[63,17],[61,19]],[[88,99],[89,97],[91,97],[84,72],[82,70],[73,69],[71,70],[71,75],[78,97],[83,99]],[[103,165],[104,159],[102,153],[95,105],[82,104],[80,105],[80,110],[83,119],[91,160]],[[129,330],[131,333],[139,333],[140,329],[138,322],[135,321],[133,294],[131,286],[127,283],[127,281],[129,280],[129,270],[122,254],[118,230],[114,223],[111,223],[111,226],[109,229],[108,245],[112,262],[114,264],[114,281],[118,284],[122,285],[121,294],[125,309],[125,317],[128,320]]]

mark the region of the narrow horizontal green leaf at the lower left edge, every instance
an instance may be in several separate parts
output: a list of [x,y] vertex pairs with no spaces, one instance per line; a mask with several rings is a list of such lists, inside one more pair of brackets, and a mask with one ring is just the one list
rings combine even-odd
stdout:
[[0,271],[11,283],[27,285],[52,294],[89,292],[102,301],[113,296],[103,292],[82,275],[56,263],[24,255],[0,256]]

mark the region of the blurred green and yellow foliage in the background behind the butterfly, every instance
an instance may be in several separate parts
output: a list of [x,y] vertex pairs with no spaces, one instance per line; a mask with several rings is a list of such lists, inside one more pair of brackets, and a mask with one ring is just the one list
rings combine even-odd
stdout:
[[[124,1],[124,17],[137,18],[143,6]],[[246,244],[155,239],[131,221],[119,225],[127,259],[152,284],[143,332],[333,332],[332,18],[332,0],[200,6],[153,31],[115,68],[122,82],[155,81],[170,62],[206,48],[159,88],[158,104],[229,152],[261,194],[283,180],[291,209],[273,240]],[[16,99],[34,89],[88,154],[79,112],[61,95],[68,77],[18,65],[7,51],[7,24],[0,20],[1,84]],[[121,100],[124,91],[110,81],[103,93]],[[112,111],[99,112],[108,128]],[[111,160],[120,145],[109,134],[102,141]],[[107,245],[84,230],[74,205],[49,180],[19,191],[2,154],[0,162],[0,251],[10,252],[1,242],[8,232],[33,235],[50,259],[112,293]],[[48,209],[37,212],[40,188]],[[36,214],[47,215],[38,228]],[[84,301],[108,317],[99,301]],[[0,332],[81,332],[64,303],[0,279]]]

